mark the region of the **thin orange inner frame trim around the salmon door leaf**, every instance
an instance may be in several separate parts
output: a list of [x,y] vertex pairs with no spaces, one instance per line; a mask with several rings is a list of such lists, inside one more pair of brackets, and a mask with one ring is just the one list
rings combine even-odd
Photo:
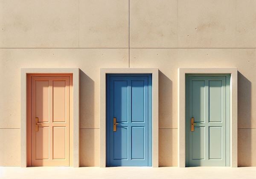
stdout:
[[73,166],[73,74],[72,73],[31,73],[27,74],[27,166],[32,166],[32,77],[70,77],[70,126],[69,166]]

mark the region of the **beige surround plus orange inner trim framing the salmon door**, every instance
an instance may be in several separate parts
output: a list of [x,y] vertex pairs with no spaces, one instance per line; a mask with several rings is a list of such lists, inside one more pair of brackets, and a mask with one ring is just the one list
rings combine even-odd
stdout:
[[[31,166],[31,128],[29,127],[29,107],[31,103],[31,88],[28,78],[44,75],[70,76],[70,166],[79,167],[79,68],[21,68],[20,69],[20,167]],[[70,83],[71,84],[71,83]],[[73,92],[72,92],[73,91]],[[30,95],[29,95],[30,94]],[[72,127],[73,126],[73,127]],[[30,132],[30,133],[29,133]]]

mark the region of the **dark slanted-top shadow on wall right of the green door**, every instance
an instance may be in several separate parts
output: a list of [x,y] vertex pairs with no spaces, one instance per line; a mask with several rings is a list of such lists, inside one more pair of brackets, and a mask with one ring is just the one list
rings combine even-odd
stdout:
[[238,166],[252,166],[251,82],[238,72]]

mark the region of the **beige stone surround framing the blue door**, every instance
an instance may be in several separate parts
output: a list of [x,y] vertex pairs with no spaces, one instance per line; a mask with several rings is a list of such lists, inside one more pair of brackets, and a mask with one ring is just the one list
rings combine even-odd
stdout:
[[106,75],[152,74],[152,167],[158,167],[158,69],[102,68],[100,69],[100,144],[99,166],[106,167]]

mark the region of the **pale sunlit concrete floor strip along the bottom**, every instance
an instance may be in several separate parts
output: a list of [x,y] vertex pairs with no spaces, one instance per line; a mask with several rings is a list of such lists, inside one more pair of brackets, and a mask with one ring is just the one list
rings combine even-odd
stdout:
[[256,167],[0,167],[0,179],[256,179]]

